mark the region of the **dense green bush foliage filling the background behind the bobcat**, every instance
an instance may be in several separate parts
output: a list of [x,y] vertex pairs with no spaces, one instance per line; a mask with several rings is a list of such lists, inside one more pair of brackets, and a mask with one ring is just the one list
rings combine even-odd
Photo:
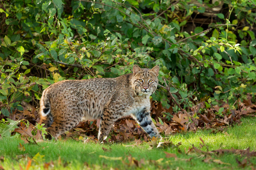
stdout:
[[1,114],[22,110],[22,100],[39,106],[42,91],[54,82],[117,77],[131,73],[134,64],[160,66],[162,86],[152,99],[174,112],[199,101],[236,107],[248,94],[255,101],[254,4],[1,1]]

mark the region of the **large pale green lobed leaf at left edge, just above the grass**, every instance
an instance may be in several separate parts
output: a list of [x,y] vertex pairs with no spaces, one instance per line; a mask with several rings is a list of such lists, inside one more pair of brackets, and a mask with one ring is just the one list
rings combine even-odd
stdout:
[[2,137],[11,137],[11,132],[13,132],[15,128],[19,128],[17,127],[17,124],[20,121],[14,121],[8,118],[7,120],[9,124],[0,123],[0,134]]

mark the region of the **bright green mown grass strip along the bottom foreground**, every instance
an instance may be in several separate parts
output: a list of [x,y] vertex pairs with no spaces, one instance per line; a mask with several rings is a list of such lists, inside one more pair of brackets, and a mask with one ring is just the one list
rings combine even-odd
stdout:
[[[27,163],[32,159],[30,170],[45,169],[47,165],[49,169],[241,169],[238,166],[236,159],[242,161],[245,157],[234,154],[224,154],[222,156],[211,155],[212,159],[209,163],[204,163],[203,159],[206,156],[195,152],[187,151],[192,144],[200,148],[200,137],[208,146],[209,150],[215,149],[246,149],[250,147],[250,151],[256,149],[256,118],[242,119],[240,126],[228,127],[223,132],[212,133],[212,130],[199,130],[196,133],[174,134],[169,137],[169,141],[174,144],[181,142],[179,146],[181,153],[178,152],[177,147],[169,148],[153,148],[150,149],[148,143],[135,147],[125,147],[131,143],[115,143],[115,144],[92,144],[78,142],[74,140],[68,141],[50,141],[41,142],[38,145],[24,144],[25,150],[19,149],[19,143],[23,141],[19,138],[4,137],[0,140],[0,165],[4,169],[25,169]],[[102,150],[104,148],[111,148],[110,152]],[[200,148],[206,151],[206,148]],[[36,154],[41,156],[36,156]],[[178,159],[166,158],[164,152],[174,153]],[[42,157],[43,156],[43,157]],[[104,156],[107,156],[104,158]],[[141,163],[137,167],[134,162],[129,163],[131,159],[138,160]],[[201,157],[200,157],[201,156]],[[111,157],[111,158],[108,158]],[[118,160],[112,160],[117,157]],[[121,157],[121,158],[118,158]],[[3,158],[3,157],[2,157]],[[184,160],[192,158],[190,161]],[[214,159],[220,159],[223,163],[218,164],[213,162]],[[256,157],[249,158],[251,163],[256,163]],[[143,163],[144,162],[144,163]],[[47,164],[48,163],[48,164]],[[1,167],[0,166],[0,167]],[[47,168],[46,168],[47,169]],[[251,169],[251,165],[245,166],[245,169]]]

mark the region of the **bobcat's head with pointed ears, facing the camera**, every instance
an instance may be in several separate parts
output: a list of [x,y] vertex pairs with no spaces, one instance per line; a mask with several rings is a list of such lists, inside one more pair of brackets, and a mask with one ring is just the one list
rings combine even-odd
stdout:
[[153,69],[140,69],[138,65],[133,65],[132,88],[136,95],[151,95],[158,86],[159,66]]

